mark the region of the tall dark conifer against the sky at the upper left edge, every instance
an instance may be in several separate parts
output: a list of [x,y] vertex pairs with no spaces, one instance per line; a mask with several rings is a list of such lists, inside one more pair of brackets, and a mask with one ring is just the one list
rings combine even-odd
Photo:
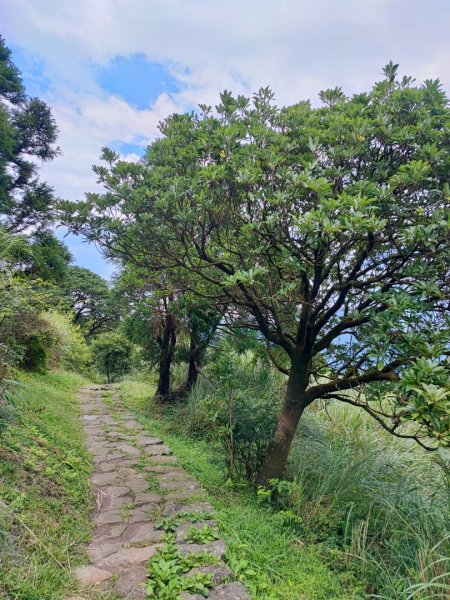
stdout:
[[10,232],[39,229],[52,218],[53,191],[39,181],[36,163],[59,153],[57,133],[47,104],[26,95],[0,36],[0,222]]

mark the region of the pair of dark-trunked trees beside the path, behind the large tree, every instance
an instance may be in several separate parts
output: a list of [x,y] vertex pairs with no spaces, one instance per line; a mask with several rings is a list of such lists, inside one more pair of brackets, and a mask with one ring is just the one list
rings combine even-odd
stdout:
[[[127,304],[127,333],[158,370],[156,398],[181,400],[197,381],[222,307],[192,297],[186,292],[186,281],[175,272],[152,273],[125,264],[116,285]],[[171,385],[175,362],[187,363],[186,378],[178,389]]]

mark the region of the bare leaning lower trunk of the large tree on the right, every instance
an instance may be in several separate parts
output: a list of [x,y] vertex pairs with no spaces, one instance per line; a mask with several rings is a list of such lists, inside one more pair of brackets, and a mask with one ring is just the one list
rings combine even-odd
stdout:
[[270,479],[281,479],[283,476],[298,422],[306,408],[307,385],[308,360],[302,356],[294,358],[274,437],[256,476],[258,485],[267,486]]

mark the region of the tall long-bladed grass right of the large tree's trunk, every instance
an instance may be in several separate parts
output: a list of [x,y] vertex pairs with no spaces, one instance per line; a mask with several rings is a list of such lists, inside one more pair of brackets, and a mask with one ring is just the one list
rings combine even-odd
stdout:
[[371,597],[449,597],[449,480],[436,458],[336,404],[305,416],[289,472],[306,526],[356,562]]

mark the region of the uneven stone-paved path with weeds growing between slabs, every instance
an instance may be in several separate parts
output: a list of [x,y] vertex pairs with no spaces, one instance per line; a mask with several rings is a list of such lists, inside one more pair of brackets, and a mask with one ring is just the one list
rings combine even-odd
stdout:
[[[208,531],[217,531],[214,510],[170,449],[143,430],[113,388],[83,388],[80,403],[94,464],[95,530],[88,549],[90,564],[76,570],[79,593],[66,600],[150,597],[143,583],[148,577],[146,563],[167,538],[158,529],[161,523],[171,524],[172,537],[183,555],[206,550],[217,557],[214,566],[197,567],[187,574],[212,574],[210,600],[248,600],[224,562],[224,541],[220,537],[204,544],[193,541],[193,528],[207,525]],[[204,597],[182,592],[181,598]]]

